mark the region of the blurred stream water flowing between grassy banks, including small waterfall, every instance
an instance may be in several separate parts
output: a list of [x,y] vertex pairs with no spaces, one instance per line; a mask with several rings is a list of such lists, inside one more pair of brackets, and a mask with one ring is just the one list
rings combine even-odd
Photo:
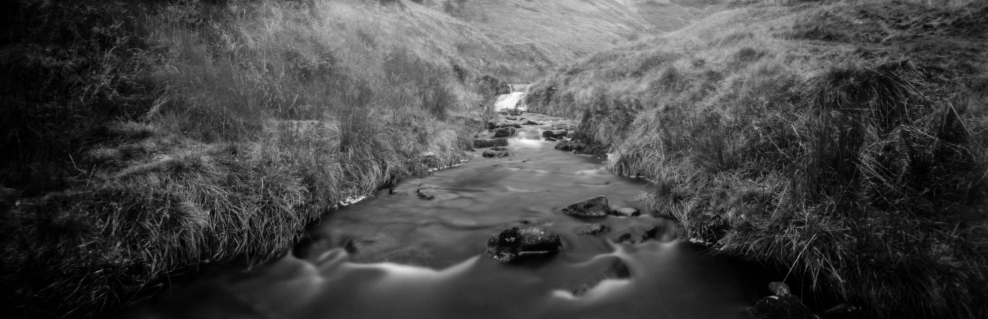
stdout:
[[[643,184],[541,141],[539,132],[561,119],[522,117],[542,125],[510,140],[511,157],[482,158],[478,150],[462,165],[404,180],[324,216],[277,261],[176,285],[125,317],[736,318],[757,300],[766,282],[677,239],[672,221],[563,215],[561,208],[598,195],[646,212],[636,201]],[[611,231],[578,235],[573,229],[584,223]],[[516,225],[551,229],[562,250],[522,265],[483,255],[491,235]],[[658,233],[643,243],[609,239],[652,225]]]

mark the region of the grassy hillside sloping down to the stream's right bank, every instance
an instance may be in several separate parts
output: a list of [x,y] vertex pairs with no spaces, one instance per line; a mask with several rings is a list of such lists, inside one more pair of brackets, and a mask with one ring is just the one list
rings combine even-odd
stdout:
[[720,12],[561,67],[528,103],[581,118],[656,212],[810,303],[988,316],[988,6],[858,3]]

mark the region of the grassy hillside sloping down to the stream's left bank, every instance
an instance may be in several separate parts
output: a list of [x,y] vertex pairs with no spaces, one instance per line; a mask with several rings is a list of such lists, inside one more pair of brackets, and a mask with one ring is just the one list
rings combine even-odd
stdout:
[[0,8],[0,304],[87,317],[284,252],[338,203],[457,162],[531,77],[449,15],[377,1]]

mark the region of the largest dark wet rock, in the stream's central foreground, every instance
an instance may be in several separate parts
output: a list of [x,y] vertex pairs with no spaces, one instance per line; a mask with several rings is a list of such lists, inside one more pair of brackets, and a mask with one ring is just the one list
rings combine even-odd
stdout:
[[487,240],[487,255],[502,263],[551,255],[559,252],[560,248],[562,241],[558,234],[537,226],[511,227]]

